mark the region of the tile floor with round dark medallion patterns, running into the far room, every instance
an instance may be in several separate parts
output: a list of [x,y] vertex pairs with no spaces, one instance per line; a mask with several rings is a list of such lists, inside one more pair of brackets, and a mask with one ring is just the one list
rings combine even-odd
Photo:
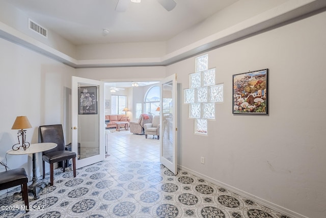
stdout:
[[[77,169],[76,178],[56,169],[55,184],[37,200],[30,195],[35,210],[0,210],[0,217],[288,217],[185,171],[172,175],[159,163],[157,139],[109,136],[104,161]],[[17,191],[0,196],[0,205],[23,206]]]

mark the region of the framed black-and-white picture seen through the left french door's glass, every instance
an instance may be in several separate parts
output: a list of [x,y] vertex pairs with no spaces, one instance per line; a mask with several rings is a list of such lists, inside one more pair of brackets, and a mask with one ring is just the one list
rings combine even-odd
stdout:
[[97,86],[78,87],[78,114],[97,114]]

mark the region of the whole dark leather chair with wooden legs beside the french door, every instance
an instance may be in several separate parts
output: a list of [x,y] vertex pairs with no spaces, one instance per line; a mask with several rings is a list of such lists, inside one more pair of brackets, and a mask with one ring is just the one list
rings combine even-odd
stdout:
[[50,185],[53,185],[53,163],[62,161],[62,169],[65,172],[65,161],[72,158],[73,177],[76,177],[76,153],[65,150],[65,140],[63,136],[62,125],[47,125],[40,126],[40,139],[41,142],[53,142],[58,146],[42,154],[43,160],[43,179],[45,178],[45,162],[50,164]]

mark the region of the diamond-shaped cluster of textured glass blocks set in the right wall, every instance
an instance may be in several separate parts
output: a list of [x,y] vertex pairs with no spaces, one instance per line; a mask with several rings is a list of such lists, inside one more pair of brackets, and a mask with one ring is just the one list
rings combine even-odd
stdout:
[[208,54],[196,58],[195,68],[189,74],[183,102],[189,104],[189,118],[195,119],[195,133],[207,135],[207,120],[215,119],[215,102],[223,102],[223,84],[215,84],[215,68],[208,69]]

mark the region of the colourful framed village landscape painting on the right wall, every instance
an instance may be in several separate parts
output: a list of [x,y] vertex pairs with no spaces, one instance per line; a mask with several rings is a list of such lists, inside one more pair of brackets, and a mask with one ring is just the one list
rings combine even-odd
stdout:
[[268,114],[268,69],[233,75],[233,114]]

